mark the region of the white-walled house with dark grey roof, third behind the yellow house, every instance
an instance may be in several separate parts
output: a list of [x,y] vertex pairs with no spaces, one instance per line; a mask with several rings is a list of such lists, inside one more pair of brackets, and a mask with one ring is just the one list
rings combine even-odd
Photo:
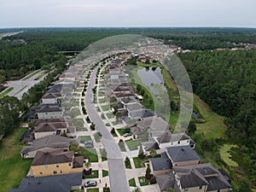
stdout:
[[58,105],[43,105],[36,111],[38,119],[57,119],[63,115],[62,109]]

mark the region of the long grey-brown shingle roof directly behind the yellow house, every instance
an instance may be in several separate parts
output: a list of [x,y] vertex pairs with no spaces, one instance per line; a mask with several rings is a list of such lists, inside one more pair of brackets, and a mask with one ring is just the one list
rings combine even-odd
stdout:
[[47,137],[42,137],[37,140],[34,140],[32,145],[29,147],[24,147],[21,149],[20,153],[21,154],[26,154],[30,151],[38,150],[39,148],[68,148],[71,143],[78,143],[73,138],[68,138],[68,137],[61,137],[61,136],[47,136]]

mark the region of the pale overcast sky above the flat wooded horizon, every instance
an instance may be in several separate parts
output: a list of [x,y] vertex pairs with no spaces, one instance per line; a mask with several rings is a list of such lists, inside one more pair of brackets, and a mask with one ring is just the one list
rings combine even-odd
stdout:
[[255,0],[0,0],[0,28],[248,26]]

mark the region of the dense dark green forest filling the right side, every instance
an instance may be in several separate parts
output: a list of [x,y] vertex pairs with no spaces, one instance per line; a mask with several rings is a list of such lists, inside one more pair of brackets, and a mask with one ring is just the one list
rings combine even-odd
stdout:
[[256,184],[256,50],[180,54],[195,94],[224,120],[226,135],[240,146],[239,159]]

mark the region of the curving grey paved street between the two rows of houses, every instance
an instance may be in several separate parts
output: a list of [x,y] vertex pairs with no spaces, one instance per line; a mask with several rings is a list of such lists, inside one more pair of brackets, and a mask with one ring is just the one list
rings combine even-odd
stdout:
[[96,123],[96,131],[102,133],[102,143],[108,153],[108,172],[110,187],[112,192],[129,192],[128,181],[125,174],[125,164],[119,146],[113,140],[108,128],[103,123],[101,117],[96,112],[94,103],[90,103],[93,98],[92,88],[95,86],[96,70],[91,74],[90,83],[85,95],[85,108],[92,122]]

